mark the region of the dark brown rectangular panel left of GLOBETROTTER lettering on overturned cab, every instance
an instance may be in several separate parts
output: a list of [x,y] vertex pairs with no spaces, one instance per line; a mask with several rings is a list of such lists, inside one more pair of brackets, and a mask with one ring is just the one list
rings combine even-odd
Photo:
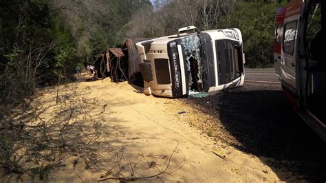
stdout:
[[154,60],[156,80],[158,85],[168,85],[171,83],[169,72],[169,61],[164,58]]

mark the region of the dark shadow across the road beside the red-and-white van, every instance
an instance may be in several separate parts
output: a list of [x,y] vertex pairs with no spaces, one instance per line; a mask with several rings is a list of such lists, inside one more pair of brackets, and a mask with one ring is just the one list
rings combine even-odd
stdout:
[[[217,110],[212,114],[230,139],[236,140],[218,139],[257,155],[281,180],[292,180],[293,175],[308,181],[326,180],[326,143],[296,115],[279,89],[244,87],[186,103],[206,113]],[[218,126],[212,130],[221,130]]]

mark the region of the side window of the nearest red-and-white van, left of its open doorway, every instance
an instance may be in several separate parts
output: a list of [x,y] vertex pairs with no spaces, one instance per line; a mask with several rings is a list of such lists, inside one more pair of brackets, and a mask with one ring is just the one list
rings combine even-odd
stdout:
[[296,40],[296,21],[285,23],[284,30],[283,52],[293,54]]

